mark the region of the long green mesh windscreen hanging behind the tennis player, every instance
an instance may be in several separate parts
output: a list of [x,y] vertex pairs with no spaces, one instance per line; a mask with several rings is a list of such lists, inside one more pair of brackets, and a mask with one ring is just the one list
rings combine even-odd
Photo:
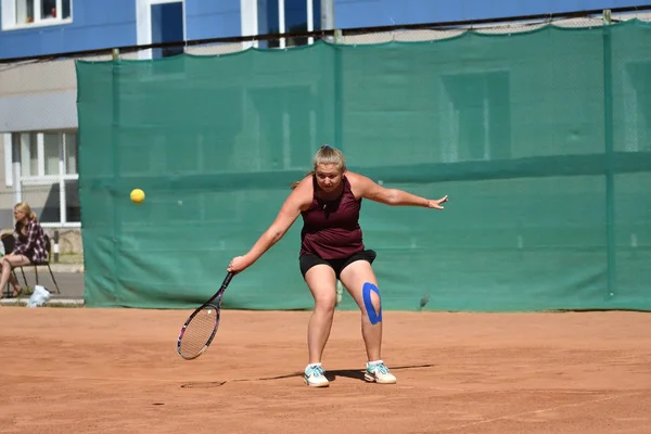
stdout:
[[[87,306],[203,303],[330,143],[386,188],[450,199],[363,201],[385,310],[651,309],[649,77],[638,21],[77,62]],[[312,307],[302,225],[225,308]]]

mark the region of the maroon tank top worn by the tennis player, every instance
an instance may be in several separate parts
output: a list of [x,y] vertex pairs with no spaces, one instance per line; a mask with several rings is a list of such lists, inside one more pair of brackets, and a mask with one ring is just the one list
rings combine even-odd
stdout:
[[312,203],[303,216],[301,254],[311,253],[322,259],[341,259],[363,251],[359,210],[361,199],[350,191],[350,183],[342,177],[344,191],[332,201],[317,197],[317,180],[312,177]]

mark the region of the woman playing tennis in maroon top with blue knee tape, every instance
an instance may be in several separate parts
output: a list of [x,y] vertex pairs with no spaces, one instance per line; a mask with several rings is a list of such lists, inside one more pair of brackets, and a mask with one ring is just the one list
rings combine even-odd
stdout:
[[392,206],[443,209],[447,196],[427,200],[386,189],[346,169],[344,155],[323,145],[315,155],[314,171],[292,186],[293,191],[276,220],[244,256],[234,257],[228,271],[240,272],[253,265],[303,216],[301,272],[315,298],[307,328],[309,363],[304,380],[309,386],[328,386],[321,357],[334,317],[336,279],[341,280],[361,310],[369,382],[393,384],[396,378],[382,361],[382,311],[378,280],[371,268],[375,252],[367,250],[359,227],[361,200]]

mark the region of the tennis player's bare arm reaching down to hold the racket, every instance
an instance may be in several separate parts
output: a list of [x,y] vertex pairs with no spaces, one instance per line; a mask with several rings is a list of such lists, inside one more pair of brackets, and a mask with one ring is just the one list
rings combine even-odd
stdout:
[[312,201],[311,178],[303,179],[282,204],[280,212],[269,228],[260,235],[256,243],[244,256],[234,257],[228,271],[240,272],[252,266],[269,248],[279,242],[292,227],[301,210],[309,206]]

